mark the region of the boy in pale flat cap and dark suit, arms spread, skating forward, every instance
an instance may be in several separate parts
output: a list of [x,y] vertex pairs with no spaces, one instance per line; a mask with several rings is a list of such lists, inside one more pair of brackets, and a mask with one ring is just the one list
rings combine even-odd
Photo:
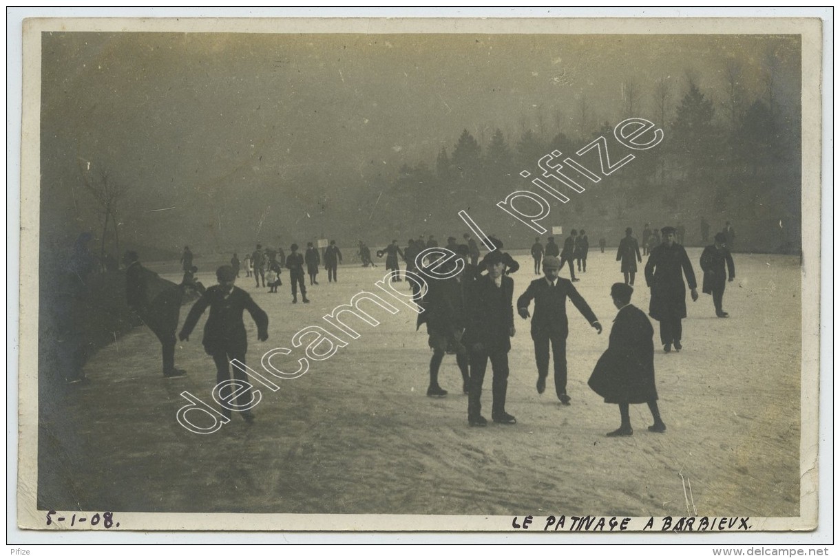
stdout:
[[566,338],[569,320],[566,317],[566,299],[572,301],[590,326],[601,333],[601,323],[569,279],[558,277],[560,262],[554,256],[543,259],[545,277],[534,279],[517,300],[517,310],[523,320],[530,317],[528,305],[533,303],[531,338],[537,359],[537,393],[545,391],[545,378],[549,375],[549,342],[554,353],[554,391],[564,405],[570,404],[566,394]]

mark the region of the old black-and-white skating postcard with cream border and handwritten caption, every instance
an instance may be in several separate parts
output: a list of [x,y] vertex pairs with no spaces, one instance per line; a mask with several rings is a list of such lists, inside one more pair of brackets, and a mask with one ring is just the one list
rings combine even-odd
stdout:
[[820,19],[23,37],[19,528],[821,524]]

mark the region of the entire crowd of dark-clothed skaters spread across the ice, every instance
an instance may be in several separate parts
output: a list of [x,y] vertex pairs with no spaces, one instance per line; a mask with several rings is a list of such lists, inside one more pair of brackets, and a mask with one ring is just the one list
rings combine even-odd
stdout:
[[[707,237],[707,223],[701,220],[701,236]],[[651,290],[648,316],[659,321],[660,342],[664,352],[679,352],[681,344],[681,320],[686,317],[685,281],[687,281],[692,300],[697,300],[697,283],[690,259],[679,242],[684,237],[684,227],[662,227],[650,229],[646,223],[643,229],[644,255],[648,262],[644,267],[645,281]],[[727,222],[722,232],[714,237],[714,243],[704,249],[700,265],[704,272],[702,289],[712,295],[716,314],[727,317],[722,309],[723,292],[728,281],[734,279],[734,263],[727,248],[734,241],[734,229]],[[385,248],[376,251],[378,258],[386,258],[386,269],[395,271],[392,281],[401,281],[400,260],[405,262],[406,270],[417,273],[434,266],[438,272],[446,269],[459,269],[449,279],[429,281],[428,292],[418,304],[423,313],[418,315],[417,329],[425,323],[428,333],[428,346],[433,354],[429,362],[429,397],[444,397],[448,394],[438,383],[441,363],[446,354],[454,354],[461,373],[463,391],[468,395],[468,423],[470,426],[485,426],[486,418],[481,415],[481,392],[487,363],[492,370],[492,406],[491,419],[499,424],[516,424],[516,418],[507,412],[507,378],[510,373],[507,353],[511,350],[510,338],[516,334],[514,307],[523,320],[530,319],[530,333],[533,341],[534,358],[537,368],[537,391],[543,394],[549,375],[549,361],[553,359],[554,392],[560,404],[570,405],[571,397],[567,393],[566,341],[568,337],[568,318],[566,300],[570,300],[585,320],[601,334],[600,321],[586,303],[573,283],[579,282],[575,276],[586,273],[586,260],[589,251],[589,239],[584,229],[570,231],[561,248],[549,237],[543,246],[540,237],[535,238],[531,247],[534,262],[534,274],[542,277],[534,279],[525,292],[512,300],[513,282],[510,277],[519,269],[519,263],[503,251],[503,243],[495,237],[491,242],[496,249],[481,258],[478,242],[469,233],[463,235],[463,241],[449,237],[445,248],[456,254],[440,263],[439,258],[417,258],[427,248],[438,248],[438,241],[429,235],[410,239],[405,249],[396,239]],[[606,242],[599,242],[604,252]],[[375,267],[370,255],[370,248],[359,241],[361,264]],[[653,415],[654,425],[649,430],[664,432],[665,425],[656,404],[657,394],[654,381],[653,336],[646,313],[630,304],[633,295],[636,263],[643,262],[639,242],[633,236],[633,229],[627,227],[625,237],[619,242],[617,261],[621,262],[624,275],[623,283],[612,285],[610,296],[618,310],[612,326],[609,347],[599,359],[590,378],[591,389],[604,397],[606,403],[618,404],[621,426],[609,436],[632,435],[627,407],[629,404],[648,404]],[[139,263],[138,254],[127,252],[123,258],[126,269],[126,298],[129,308],[137,316],[139,323],[148,326],[161,344],[162,369],[164,378],[181,378],[186,372],[176,368],[174,349],[179,310],[184,295],[193,292],[198,300],[192,306],[186,321],[178,334],[181,341],[188,341],[192,329],[207,308],[210,317],[204,329],[202,345],[208,355],[213,357],[217,367],[217,383],[231,378],[231,360],[245,362],[247,340],[245,337],[243,315],[248,310],[258,329],[258,338],[265,341],[268,337],[268,316],[256,305],[244,289],[235,286],[236,279],[244,271],[245,277],[255,280],[255,288],[268,288],[269,293],[278,292],[281,286],[282,270],[289,272],[292,303],[297,303],[298,290],[304,303],[307,298],[306,277],[309,286],[318,285],[319,267],[323,263],[328,270],[328,281],[338,281],[338,264],[342,254],[334,240],[324,249],[323,258],[312,242],[301,253],[297,244],[291,244],[286,255],[282,248],[263,248],[257,243],[255,250],[246,253],[242,260],[238,253],[233,254],[229,265],[217,269],[218,284],[205,288],[195,279],[197,268],[193,265],[193,254],[187,246],[181,254],[183,278],[176,289],[169,289],[165,294],[149,300],[147,281],[149,274]],[[568,264],[570,279],[559,277],[559,273]],[[727,274],[728,272],[728,274]],[[408,278],[409,276],[406,275]],[[412,283],[417,289],[417,284]],[[161,298],[162,297],[162,298]],[[533,316],[530,306],[533,303]],[[550,353],[549,353],[550,348]],[[233,368],[235,379],[246,381],[244,373]],[[229,389],[233,389],[228,386]],[[222,394],[225,397],[225,394]],[[239,398],[244,397],[240,394]],[[238,400],[239,400],[238,398]],[[244,399],[242,399],[244,401]],[[228,411],[229,415],[229,411]],[[244,420],[254,421],[254,415],[244,412]]]

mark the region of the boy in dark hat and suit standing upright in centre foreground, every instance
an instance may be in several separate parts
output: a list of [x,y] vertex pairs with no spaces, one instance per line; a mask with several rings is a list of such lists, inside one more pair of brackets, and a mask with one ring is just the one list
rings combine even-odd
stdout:
[[468,322],[464,332],[465,344],[470,348],[467,419],[470,426],[487,425],[481,416],[481,386],[489,358],[493,368],[493,421],[513,425],[517,420],[505,410],[510,373],[507,353],[511,350],[510,338],[517,332],[513,325],[513,279],[505,275],[504,256],[498,250],[486,253],[481,263],[487,274],[476,279],[467,294]]

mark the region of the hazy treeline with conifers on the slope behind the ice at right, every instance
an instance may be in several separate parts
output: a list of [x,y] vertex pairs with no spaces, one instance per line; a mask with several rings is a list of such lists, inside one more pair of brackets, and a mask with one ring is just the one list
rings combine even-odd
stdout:
[[[587,191],[570,196],[549,217],[556,221],[544,224],[585,225],[612,242],[626,226],[685,222],[691,231],[706,216],[713,229],[725,221],[735,224],[743,249],[795,252],[801,242],[801,110],[780,102],[772,72],[764,91],[749,94],[739,71],[727,66],[727,88],[723,95],[717,91],[717,99],[716,91],[704,91],[696,77],[687,76],[679,93],[669,81],[658,81],[650,91],[653,102],[640,107],[639,87],[631,80],[622,84],[622,113],[613,120],[588,123],[591,107],[581,99],[576,125],[555,117],[554,129],[540,121],[534,128],[522,126],[516,137],[496,128],[483,144],[465,129],[435,160],[400,166],[387,189],[390,211],[399,215],[382,215],[381,222],[398,222],[400,231],[449,234],[463,228],[457,212],[473,207],[471,215],[490,220],[503,236],[513,221],[495,209],[496,201],[533,188],[520,171],[537,175],[543,155],[556,149],[574,156],[598,136],[613,139],[623,118],[644,117],[663,128],[664,141],[636,152],[632,163],[598,185],[582,180]],[[628,152],[612,141],[611,157]],[[406,219],[408,207],[414,211]],[[533,237],[522,228],[511,232],[517,244]],[[694,243],[693,236],[686,243]]]

